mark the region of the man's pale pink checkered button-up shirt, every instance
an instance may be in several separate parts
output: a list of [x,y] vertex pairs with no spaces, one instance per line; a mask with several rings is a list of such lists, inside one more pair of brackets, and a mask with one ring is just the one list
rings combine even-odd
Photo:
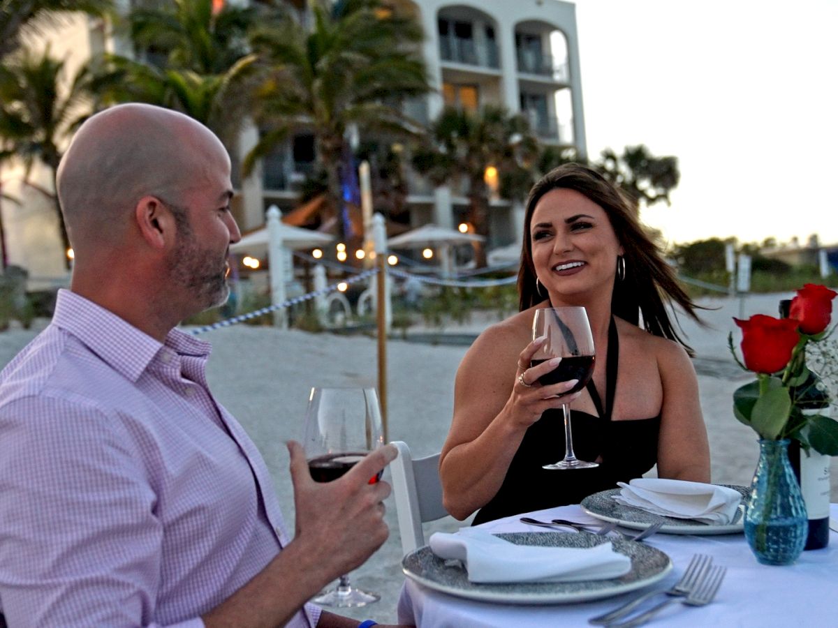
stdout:
[[[209,345],[59,291],[0,373],[0,607],[11,626],[203,626],[287,543]],[[277,591],[282,595],[282,591]],[[307,605],[289,625],[316,625]]]

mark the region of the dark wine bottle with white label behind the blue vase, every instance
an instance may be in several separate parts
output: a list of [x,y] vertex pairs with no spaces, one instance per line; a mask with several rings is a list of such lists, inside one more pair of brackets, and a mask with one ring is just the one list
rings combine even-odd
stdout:
[[[780,301],[780,316],[789,317],[791,301]],[[806,381],[791,390],[792,399],[804,415],[829,415],[830,398],[820,378],[810,370]],[[789,444],[789,461],[809,515],[806,549],[825,548],[830,542],[830,456],[814,449],[804,450],[799,440]]]

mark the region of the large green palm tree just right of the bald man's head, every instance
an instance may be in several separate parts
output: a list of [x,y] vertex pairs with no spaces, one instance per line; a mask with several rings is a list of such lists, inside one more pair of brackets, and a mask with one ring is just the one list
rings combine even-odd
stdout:
[[307,126],[327,175],[328,204],[341,208],[344,227],[346,208],[339,199],[342,189],[351,187],[354,170],[348,133],[353,128],[402,137],[421,132],[401,104],[430,89],[419,51],[423,35],[415,21],[380,0],[313,0],[310,8],[310,28],[287,8],[251,39],[264,72],[256,116],[265,132],[245,169],[292,129]]

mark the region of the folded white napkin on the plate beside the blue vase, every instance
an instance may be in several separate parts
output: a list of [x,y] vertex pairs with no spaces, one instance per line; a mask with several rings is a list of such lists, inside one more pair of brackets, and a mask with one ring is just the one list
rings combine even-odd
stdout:
[[742,501],[742,495],[732,488],[702,482],[640,477],[629,484],[617,484],[623,490],[613,498],[624,506],[716,525],[732,522]]

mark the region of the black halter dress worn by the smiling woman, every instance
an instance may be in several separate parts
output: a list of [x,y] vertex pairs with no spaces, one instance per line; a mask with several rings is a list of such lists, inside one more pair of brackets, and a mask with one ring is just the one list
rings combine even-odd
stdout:
[[576,504],[595,492],[616,488],[649,471],[658,460],[660,415],[652,419],[611,420],[617,388],[619,339],[613,318],[608,327],[608,360],[605,364],[605,406],[591,380],[591,394],[598,416],[573,410],[573,449],[580,460],[595,461],[592,469],[549,471],[542,465],[561,460],[565,450],[564,414],[547,410],[526,430],[524,440],[506,471],[497,494],[474,517],[473,525],[554,506]]

